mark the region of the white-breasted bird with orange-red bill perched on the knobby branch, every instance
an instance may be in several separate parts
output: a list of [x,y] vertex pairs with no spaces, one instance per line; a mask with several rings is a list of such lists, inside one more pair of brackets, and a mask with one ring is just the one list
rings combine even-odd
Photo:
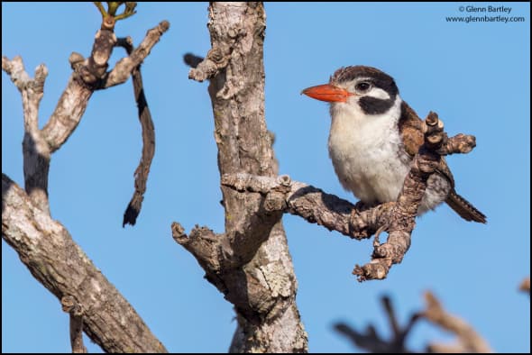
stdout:
[[[330,104],[329,157],[342,186],[370,207],[397,201],[410,163],[423,145],[423,121],[399,96],[390,75],[378,68],[339,68],[329,83],[307,87],[309,97]],[[442,157],[417,215],[443,203],[466,221],[487,223],[482,212],[458,195]]]

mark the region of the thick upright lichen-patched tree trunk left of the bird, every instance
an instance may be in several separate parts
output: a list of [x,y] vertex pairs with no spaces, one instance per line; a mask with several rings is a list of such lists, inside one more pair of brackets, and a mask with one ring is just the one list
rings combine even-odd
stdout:
[[[276,176],[264,118],[263,5],[211,3],[209,17],[212,49],[189,77],[210,79],[220,174]],[[297,280],[276,199],[225,186],[222,193],[225,234],[195,230],[187,239],[174,225],[174,237],[235,305],[238,328],[230,350],[306,351],[307,334],[295,303]]]

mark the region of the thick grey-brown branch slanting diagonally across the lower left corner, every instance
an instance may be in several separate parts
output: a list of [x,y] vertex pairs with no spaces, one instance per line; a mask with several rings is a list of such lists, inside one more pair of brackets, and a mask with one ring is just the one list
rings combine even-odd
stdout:
[[2,174],[2,238],[33,277],[83,310],[88,337],[108,352],[166,352],[116,288],[96,269],[63,225],[34,205]]

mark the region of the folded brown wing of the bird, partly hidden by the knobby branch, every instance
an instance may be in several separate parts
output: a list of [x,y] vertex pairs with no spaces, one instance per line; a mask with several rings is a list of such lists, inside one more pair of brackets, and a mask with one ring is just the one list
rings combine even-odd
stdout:
[[[401,116],[399,117],[399,132],[403,137],[405,150],[410,157],[414,158],[419,147],[423,145],[423,121],[416,112],[403,101],[401,104]],[[440,160],[440,166],[436,169],[442,176],[446,177],[454,188],[454,177],[447,166],[445,158]]]

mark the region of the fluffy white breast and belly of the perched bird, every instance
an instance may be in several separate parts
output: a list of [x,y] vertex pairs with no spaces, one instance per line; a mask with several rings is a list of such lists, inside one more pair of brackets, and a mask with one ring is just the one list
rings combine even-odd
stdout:
[[401,102],[397,96],[386,114],[372,115],[354,103],[331,106],[329,156],[342,186],[364,203],[395,201],[408,174],[409,159],[399,155]]

